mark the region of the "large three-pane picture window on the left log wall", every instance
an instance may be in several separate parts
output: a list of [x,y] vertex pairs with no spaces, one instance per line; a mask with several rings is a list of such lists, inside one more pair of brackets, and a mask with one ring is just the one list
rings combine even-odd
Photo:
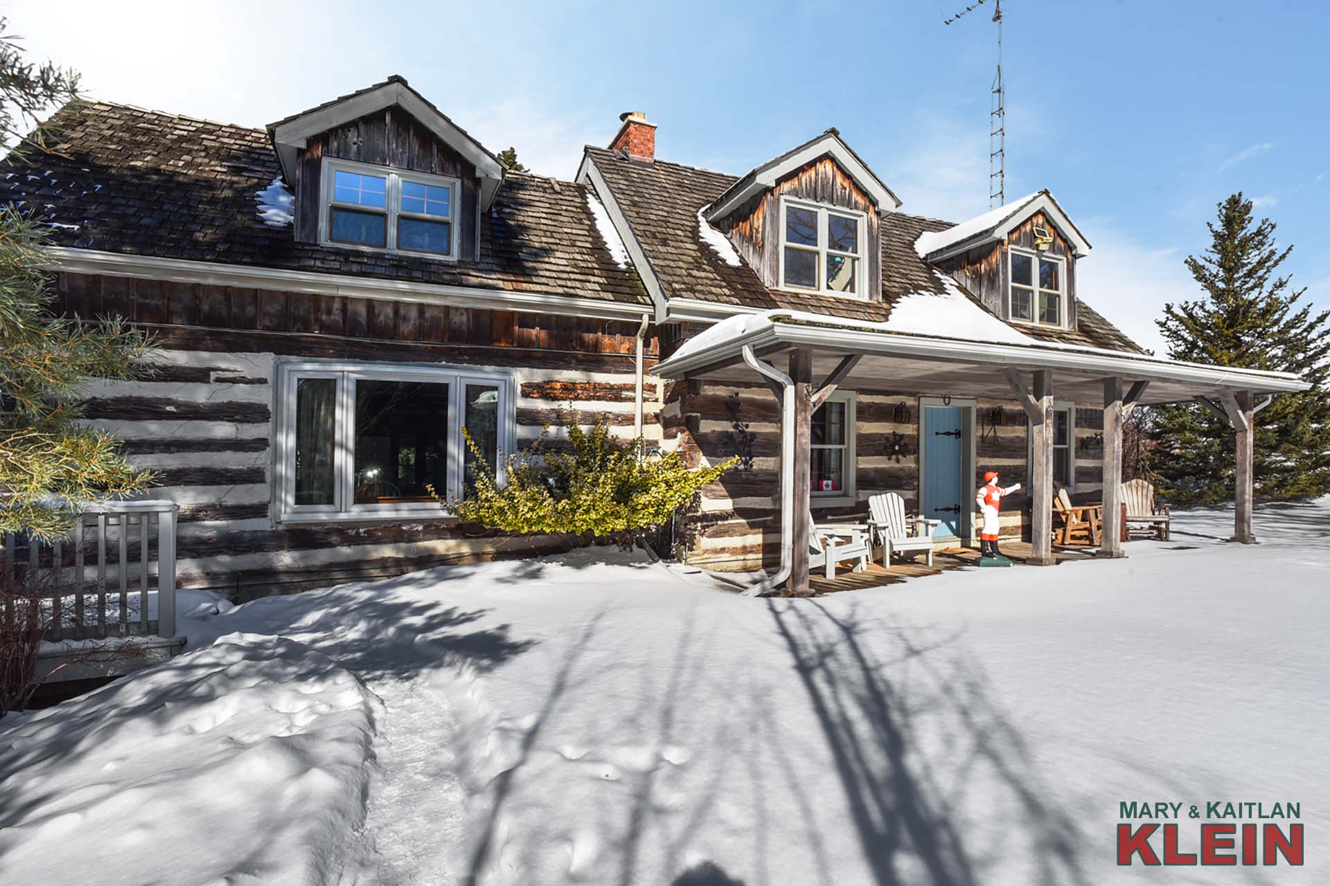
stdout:
[[430,489],[464,498],[481,469],[463,428],[489,470],[512,449],[505,375],[311,361],[278,376],[283,519],[439,513]]

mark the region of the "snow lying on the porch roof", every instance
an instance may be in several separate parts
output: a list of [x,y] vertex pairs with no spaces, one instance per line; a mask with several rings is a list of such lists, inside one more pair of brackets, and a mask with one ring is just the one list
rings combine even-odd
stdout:
[[672,360],[701,353],[722,341],[738,339],[763,325],[770,325],[777,319],[798,320],[801,323],[814,323],[818,325],[843,325],[855,329],[876,329],[880,332],[895,332],[898,335],[927,335],[944,339],[963,339],[967,341],[988,341],[998,344],[1047,344],[1037,341],[1023,332],[1011,328],[996,316],[976,304],[974,299],[960,291],[946,274],[938,274],[943,291],[939,292],[911,292],[902,296],[891,307],[891,315],[886,321],[874,323],[870,320],[855,320],[851,317],[834,317],[826,313],[810,313],[807,311],[790,311],[786,308],[773,308],[758,313],[738,313],[726,317],[720,323],[704,329],[689,339],[674,353]]

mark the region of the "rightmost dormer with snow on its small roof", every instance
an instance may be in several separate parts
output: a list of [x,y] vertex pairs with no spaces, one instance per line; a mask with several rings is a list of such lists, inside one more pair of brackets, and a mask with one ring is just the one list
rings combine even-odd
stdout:
[[1089,243],[1047,190],[915,242],[1003,320],[1076,328],[1076,259]]

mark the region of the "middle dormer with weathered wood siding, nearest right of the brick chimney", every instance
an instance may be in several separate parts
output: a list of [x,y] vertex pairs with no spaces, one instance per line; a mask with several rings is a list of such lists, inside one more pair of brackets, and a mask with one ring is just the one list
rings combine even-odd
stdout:
[[767,288],[876,302],[879,224],[899,206],[829,129],[734,182],[702,219],[730,239]]

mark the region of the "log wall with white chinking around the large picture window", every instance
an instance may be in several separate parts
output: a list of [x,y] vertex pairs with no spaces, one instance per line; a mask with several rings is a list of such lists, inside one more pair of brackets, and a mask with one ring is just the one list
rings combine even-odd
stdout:
[[[516,438],[529,445],[559,410],[605,414],[633,434],[636,324],[407,302],[61,274],[59,302],[84,317],[120,315],[149,331],[153,375],[93,381],[85,417],[158,473],[146,495],[181,506],[178,580],[234,599],[448,562],[561,550],[454,518],[275,521],[275,365],[281,357],[466,364],[507,371]],[[661,441],[657,347],[649,331],[644,433]],[[563,436],[552,430],[553,440]]]

